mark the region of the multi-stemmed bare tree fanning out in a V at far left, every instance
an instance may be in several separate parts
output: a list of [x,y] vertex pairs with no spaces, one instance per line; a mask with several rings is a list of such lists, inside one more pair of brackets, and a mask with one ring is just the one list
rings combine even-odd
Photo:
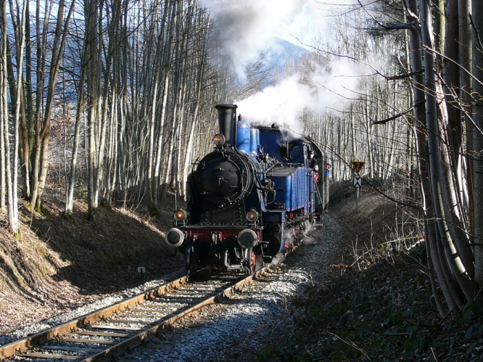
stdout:
[[[15,80],[12,75],[12,67],[8,66],[10,72],[10,92],[14,96],[16,107],[19,108],[18,121],[19,121],[19,139],[20,154],[22,159],[22,175],[23,175],[23,196],[28,198],[32,206],[37,209],[41,209],[41,197],[46,185],[47,168],[48,168],[48,144],[49,144],[49,129],[50,129],[50,117],[52,117],[52,107],[55,99],[55,88],[57,84],[57,74],[59,72],[61,54],[65,46],[66,34],[68,23],[75,6],[75,1],[70,3],[68,14],[65,14],[66,3],[61,0],[57,4],[57,23],[53,32],[50,32],[50,11],[52,6],[50,2],[45,4],[46,12],[41,14],[40,3],[37,3],[37,11],[35,15],[36,19],[36,37],[34,38],[37,44],[36,52],[36,64],[37,73],[35,79],[37,80],[36,86],[36,99],[32,97],[32,49],[30,46],[30,40],[26,43],[22,40],[21,33],[19,32],[19,23],[16,19],[18,17],[12,17],[15,29],[15,43],[17,54],[17,70],[19,70],[22,77],[17,77]],[[15,14],[15,9],[19,9],[19,4],[15,8],[13,3],[10,3],[10,10],[12,14]],[[17,12],[18,13],[18,12]],[[23,13],[24,17],[29,14],[28,10]],[[27,21],[28,25],[23,26],[23,32],[30,32],[30,18]],[[50,34],[53,35],[50,35]],[[30,33],[28,34],[30,39]],[[20,43],[21,41],[21,43]],[[19,46],[22,46],[20,49]],[[23,82],[23,62],[20,64],[19,54],[23,54],[26,44],[26,87],[21,87]],[[51,44],[51,46],[50,46]],[[48,48],[48,45],[50,48]],[[11,57],[8,57],[10,63],[12,63]],[[49,63],[48,63],[49,62]],[[48,67],[50,64],[50,67]],[[19,68],[20,67],[20,68]],[[48,68],[48,71],[46,71]],[[17,90],[14,90],[12,84],[17,82]],[[46,93],[44,94],[43,88],[47,84]],[[19,88],[21,87],[21,88]],[[26,90],[26,92],[24,92]],[[18,93],[17,93],[18,92]],[[27,97],[25,97],[25,94]],[[18,147],[18,146],[16,146]],[[15,154],[18,154],[16,149]]]

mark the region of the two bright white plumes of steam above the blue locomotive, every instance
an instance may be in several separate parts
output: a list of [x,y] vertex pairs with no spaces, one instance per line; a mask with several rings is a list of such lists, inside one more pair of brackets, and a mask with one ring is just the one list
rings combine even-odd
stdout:
[[[228,66],[242,82],[246,79],[246,67],[261,52],[273,48],[277,37],[293,43],[310,43],[315,33],[324,33],[327,16],[334,10],[334,6],[313,0],[200,1],[209,9],[216,30],[216,60],[227,57]],[[346,6],[346,1],[337,6]],[[313,70],[310,74],[293,74],[248,99],[234,100],[237,112],[250,123],[276,123],[301,134],[300,117],[304,111],[323,113],[328,107],[342,109],[354,97],[360,73],[349,61],[342,59],[325,66],[312,64],[310,68]]]

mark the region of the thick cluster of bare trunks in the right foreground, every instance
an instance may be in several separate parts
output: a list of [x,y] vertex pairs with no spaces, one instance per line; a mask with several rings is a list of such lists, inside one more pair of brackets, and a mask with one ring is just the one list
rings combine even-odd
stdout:
[[[468,98],[471,79],[468,68],[471,63],[471,45],[468,40],[469,3],[466,1],[448,1],[447,10],[455,16],[446,19],[446,37],[444,55],[437,49],[437,42],[432,38],[433,23],[430,4],[420,1],[417,14],[416,1],[406,0],[408,13],[412,19],[421,20],[420,43],[424,48],[424,79],[413,79],[415,103],[422,99],[426,105],[426,117],[415,108],[416,138],[420,154],[420,174],[422,180],[423,208],[426,219],[426,247],[432,271],[444,293],[449,310],[460,309],[465,300],[477,297],[475,293],[475,267],[478,261],[471,248],[471,217],[465,208],[464,190],[471,185],[471,177],[464,179],[464,144],[463,128],[465,115],[468,114]],[[415,26],[415,22],[412,23]],[[454,32],[455,28],[458,32]],[[415,32],[411,32],[412,71],[420,65]],[[437,56],[440,56],[438,58]],[[442,78],[436,77],[442,61],[448,62],[451,70],[444,72]],[[424,82],[424,83],[422,83]],[[422,86],[424,85],[424,88]],[[424,92],[423,92],[424,90]],[[444,101],[442,101],[444,100]],[[440,107],[438,108],[438,104]],[[419,126],[420,125],[420,126]],[[427,139],[427,144],[426,140]],[[471,147],[471,143],[468,144]],[[426,177],[427,176],[427,177]],[[470,186],[470,189],[475,190]],[[455,192],[457,190],[457,192]],[[471,192],[470,192],[471,194]],[[473,197],[478,192],[473,192]],[[475,200],[477,197],[475,197]],[[471,201],[470,201],[471,203]],[[451,206],[449,206],[451,205]],[[475,258],[475,259],[473,259]],[[432,278],[433,290],[437,291],[435,278]],[[464,295],[464,299],[462,299]],[[438,305],[444,313],[442,305]]]

